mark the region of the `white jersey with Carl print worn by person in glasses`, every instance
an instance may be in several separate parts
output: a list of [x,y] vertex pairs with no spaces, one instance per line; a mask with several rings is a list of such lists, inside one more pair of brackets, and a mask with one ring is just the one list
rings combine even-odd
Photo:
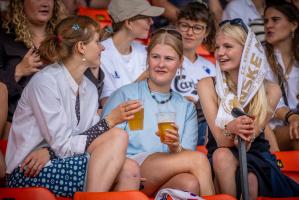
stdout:
[[182,70],[178,70],[171,84],[171,88],[183,96],[191,96],[198,101],[197,82],[206,77],[215,77],[215,65],[198,56],[194,63],[184,57]]

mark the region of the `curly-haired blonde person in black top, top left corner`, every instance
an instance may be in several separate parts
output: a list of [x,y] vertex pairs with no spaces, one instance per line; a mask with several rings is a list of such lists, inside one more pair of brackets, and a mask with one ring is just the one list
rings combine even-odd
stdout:
[[0,81],[8,90],[7,121],[11,122],[24,87],[45,64],[37,49],[63,17],[61,0],[9,1],[0,29]]

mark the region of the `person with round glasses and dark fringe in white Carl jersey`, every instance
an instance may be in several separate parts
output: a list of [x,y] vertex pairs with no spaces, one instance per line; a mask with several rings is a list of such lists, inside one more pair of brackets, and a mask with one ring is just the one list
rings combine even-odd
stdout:
[[215,66],[197,55],[196,50],[203,44],[213,51],[216,26],[207,5],[199,2],[191,2],[181,9],[176,24],[183,36],[184,62],[177,71],[171,88],[196,105],[199,127],[197,145],[204,145],[207,123],[196,88],[199,80],[215,77]]

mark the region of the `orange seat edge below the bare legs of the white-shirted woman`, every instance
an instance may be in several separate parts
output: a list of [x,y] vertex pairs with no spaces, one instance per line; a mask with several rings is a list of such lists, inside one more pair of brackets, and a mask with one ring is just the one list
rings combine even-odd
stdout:
[[124,192],[76,192],[74,200],[149,200],[139,191]]

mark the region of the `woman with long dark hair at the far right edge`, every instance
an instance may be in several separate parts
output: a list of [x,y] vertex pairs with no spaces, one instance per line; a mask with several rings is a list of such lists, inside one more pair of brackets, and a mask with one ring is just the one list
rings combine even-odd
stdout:
[[[291,3],[265,9],[268,73],[281,86],[282,98],[270,126],[280,150],[299,149],[299,14]],[[271,77],[271,76],[270,76]]]

